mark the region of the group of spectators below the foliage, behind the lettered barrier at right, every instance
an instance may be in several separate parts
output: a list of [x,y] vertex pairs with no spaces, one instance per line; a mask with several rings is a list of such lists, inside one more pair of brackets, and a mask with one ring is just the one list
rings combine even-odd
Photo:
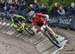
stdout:
[[74,2],[72,2],[69,5],[62,6],[62,5],[59,5],[58,3],[55,3],[50,14],[53,16],[74,15],[75,14],[75,4]]

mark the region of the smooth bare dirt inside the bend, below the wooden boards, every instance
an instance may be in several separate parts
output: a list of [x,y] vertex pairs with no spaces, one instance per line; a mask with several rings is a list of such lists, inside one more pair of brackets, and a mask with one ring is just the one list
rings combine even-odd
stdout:
[[31,43],[0,33],[0,54],[39,54]]

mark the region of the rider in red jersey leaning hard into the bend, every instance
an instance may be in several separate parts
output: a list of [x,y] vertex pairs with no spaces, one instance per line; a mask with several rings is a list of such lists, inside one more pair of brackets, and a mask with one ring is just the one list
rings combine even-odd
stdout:
[[[42,14],[42,13],[34,13],[34,14],[32,14],[32,18],[31,18],[32,30],[36,33],[37,30],[44,31],[44,28],[47,28],[53,36],[60,37],[60,35],[57,35],[48,26],[47,22],[43,19],[43,16],[46,16],[47,18],[49,17],[48,15]],[[61,37],[59,39],[63,40],[64,37]]]

